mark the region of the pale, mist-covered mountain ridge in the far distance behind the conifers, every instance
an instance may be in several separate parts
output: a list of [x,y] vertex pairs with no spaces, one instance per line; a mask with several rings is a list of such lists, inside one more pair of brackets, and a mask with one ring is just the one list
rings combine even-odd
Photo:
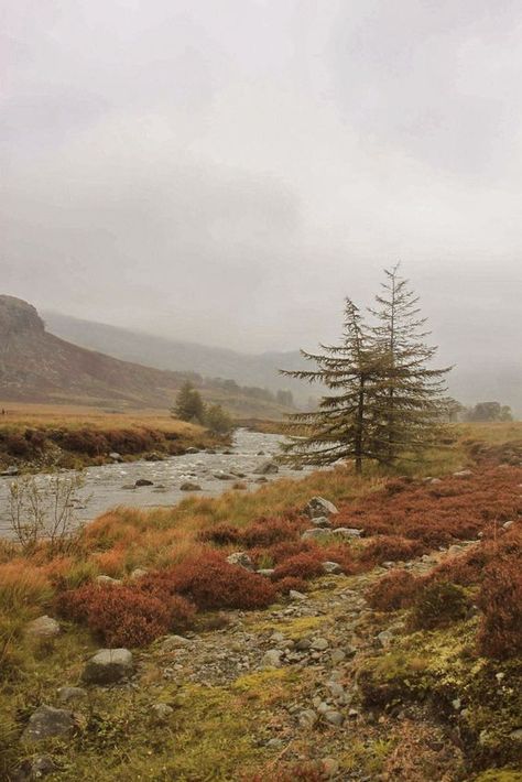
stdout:
[[[283,378],[279,369],[300,369],[306,362],[298,350],[242,354],[220,347],[184,343],[90,321],[45,313],[50,329],[84,347],[104,350],[111,356],[139,361],[159,369],[195,371],[204,377],[231,378],[241,384],[265,387],[272,391],[289,389],[301,405],[309,395],[319,395],[319,387]],[[448,378],[449,393],[465,404],[498,400],[511,405],[522,416],[522,367],[515,359],[497,355],[491,346],[483,355],[452,356],[456,367]],[[441,363],[445,363],[444,356]]]

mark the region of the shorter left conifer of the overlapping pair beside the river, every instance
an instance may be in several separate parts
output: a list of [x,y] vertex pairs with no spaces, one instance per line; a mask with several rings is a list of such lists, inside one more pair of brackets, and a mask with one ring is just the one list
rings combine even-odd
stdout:
[[[323,352],[318,355],[301,351],[317,369],[281,370],[300,380],[320,382],[331,392],[322,398],[318,410],[289,416],[287,432],[294,436],[285,446],[286,458],[313,465],[354,459],[360,474],[365,458],[377,458],[372,450],[372,399],[379,388],[381,367],[351,300],[346,300],[340,345],[320,348]],[[304,436],[298,436],[303,433]]]

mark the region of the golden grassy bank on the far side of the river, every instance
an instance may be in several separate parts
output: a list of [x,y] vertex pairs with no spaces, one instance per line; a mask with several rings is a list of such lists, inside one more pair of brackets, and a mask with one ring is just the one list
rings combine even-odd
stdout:
[[170,417],[167,412],[102,412],[59,405],[2,405],[0,470],[48,467],[81,468],[122,460],[175,456],[188,447],[205,448],[224,441],[200,426]]

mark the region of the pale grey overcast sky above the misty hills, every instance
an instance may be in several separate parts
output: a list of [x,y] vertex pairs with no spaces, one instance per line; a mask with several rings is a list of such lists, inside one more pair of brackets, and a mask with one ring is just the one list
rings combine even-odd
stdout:
[[0,8],[1,292],[286,349],[401,259],[445,358],[520,357],[519,0]]

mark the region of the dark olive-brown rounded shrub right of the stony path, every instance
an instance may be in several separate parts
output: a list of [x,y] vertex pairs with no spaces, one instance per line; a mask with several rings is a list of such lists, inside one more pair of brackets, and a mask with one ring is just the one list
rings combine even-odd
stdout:
[[410,627],[413,630],[433,630],[464,619],[469,600],[457,584],[441,582],[425,586],[413,602]]

